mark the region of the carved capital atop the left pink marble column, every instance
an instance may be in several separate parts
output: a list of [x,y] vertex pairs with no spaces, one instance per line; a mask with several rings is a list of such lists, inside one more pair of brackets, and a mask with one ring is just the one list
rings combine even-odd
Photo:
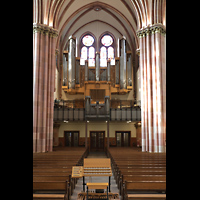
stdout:
[[58,30],[49,27],[45,24],[33,23],[33,34],[42,33],[43,35],[50,35],[51,37],[58,36]]

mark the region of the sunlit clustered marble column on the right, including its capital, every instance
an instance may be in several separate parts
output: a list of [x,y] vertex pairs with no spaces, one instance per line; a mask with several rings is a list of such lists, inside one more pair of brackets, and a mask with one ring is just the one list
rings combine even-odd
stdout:
[[165,152],[166,64],[165,26],[137,31],[140,41],[142,151]]

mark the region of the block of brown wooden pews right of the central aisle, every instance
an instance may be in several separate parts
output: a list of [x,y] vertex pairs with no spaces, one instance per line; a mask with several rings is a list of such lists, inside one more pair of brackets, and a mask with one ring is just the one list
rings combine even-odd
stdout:
[[[109,148],[107,155],[111,158],[113,174],[123,199],[166,198],[166,194],[160,194],[166,191],[165,153],[149,154],[134,148]],[[158,183],[163,187],[159,188]]]

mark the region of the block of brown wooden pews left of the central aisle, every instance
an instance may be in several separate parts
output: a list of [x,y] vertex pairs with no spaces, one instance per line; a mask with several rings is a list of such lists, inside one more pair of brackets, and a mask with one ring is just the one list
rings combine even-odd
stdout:
[[33,199],[69,200],[77,181],[71,178],[72,166],[87,154],[85,148],[33,154]]

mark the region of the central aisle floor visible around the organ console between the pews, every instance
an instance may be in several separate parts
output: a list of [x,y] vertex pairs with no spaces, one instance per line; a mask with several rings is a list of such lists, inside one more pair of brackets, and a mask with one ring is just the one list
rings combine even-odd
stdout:
[[[105,152],[90,152],[87,158],[107,158]],[[89,177],[85,177],[85,182],[89,182]],[[91,177],[91,181],[90,182],[108,182],[108,177]],[[76,184],[75,190],[73,192],[73,195],[71,196],[71,200],[77,200],[78,197],[78,193],[81,192],[83,190],[83,179],[79,178],[78,182]],[[117,188],[117,184],[116,181],[114,179],[114,176],[111,176],[111,187],[110,187],[111,192],[113,193],[118,193],[119,194],[119,190]],[[122,197],[119,195],[120,200],[122,200]]]

